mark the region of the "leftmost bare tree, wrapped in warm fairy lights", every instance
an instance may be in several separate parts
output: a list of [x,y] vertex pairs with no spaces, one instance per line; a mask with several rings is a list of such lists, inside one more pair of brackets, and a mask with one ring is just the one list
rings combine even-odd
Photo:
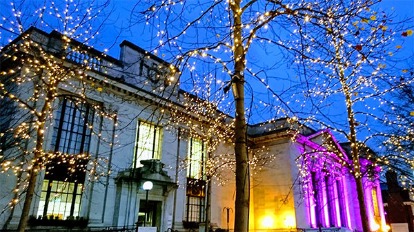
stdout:
[[[4,43],[16,38],[1,50],[0,96],[3,99],[2,107],[16,109],[22,116],[16,118],[10,115],[5,121],[2,119],[1,133],[2,145],[6,145],[11,138],[8,132],[12,133],[12,143],[19,146],[19,154],[23,156],[13,152],[15,147],[7,147],[8,149],[1,150],[0,161],[2,171],[13,169],[17,173],[17,188],[14,199],[9,204],[10,208],[13,209],[24,196],[18,231],[26,229],[39,171],[53,167],[56,163],[65,163],[72,170],[69,173],[86,173],[88,160],[91,159],[88,154],[45,150],[45,131],[53,123],[57,99],[69,99],[79,112],[82,112],[83,105],[91,105],[99,116],[112,119],[116,117],[114,112],[108,112],[88,99],[90,92],[102,91],[101,87],[90,85],[88,73],[101,68],[103,63],[99,60],[103,54],[90,56],[86,44],[99,33],[100,27],[108,18],[108,12],[105,11],[108,2],[36,2],[39,7],[33,12],[30,12],[33,8],[27,8],[26,4],[30,3],[32,2],[13,2],[6,8],[10,14],[6,10],[3,12],[2,17],[6,22],[1,26]],[[38,26],[43,30],[52,28],[61,34],[52,32],[45,36],[44,32],[36,28],[27,30],[30,26]],[[83,43],[72,41],[76,39]],[[86,125],[92,129],[88,113],[81,115],[87,122]]]

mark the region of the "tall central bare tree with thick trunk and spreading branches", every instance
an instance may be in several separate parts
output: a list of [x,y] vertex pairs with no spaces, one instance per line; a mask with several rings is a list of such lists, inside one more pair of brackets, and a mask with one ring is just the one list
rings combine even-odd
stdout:
[[[253,98],[254,93],[259,93],[258,95],[262,98],[261,103],[270,113],[291,117],[297,113],[290,107],[292,104],[288,105],[290,99],[282,98],[278,94],[281,88],[278,82],[271,78],[270,70],[279,67],[279,63],[282,62],[279,59],[275,59],[274,62],[267,61],[267,67],[254,62],[250,63],[251,54],[259,51],[262,54],[282,52],[282,59],[285,59],[285,62],[301,62],[302,59],[307,58],[319,61],[309,55],[308,49],[320,50],[323,53],[326,46],[317,44],[317,41],[322,42],[326,34],[340,36],[336,28],[328,25],[331,22],[344,23],[343,19],[362,19],[364,10],[375,4],[377,1],[310,3],[299,0],[243,2],[183,0],[161,3],[138,1],[136,4],[132,11],[132,21],[139,22],[144,19],[146,24],[154,26],[157,30],[155,39],[159,41],[159,44],[153,52],[163,54],[163,56],[170,55],[168,60],[181,69],[181,72],[189,73],[188,76],[197,76],[197,69],[200,70],[201,64],[207,63],[210,70],[211,66],[217,65],[218,67],[215,66],[213,70],[220,69],[222,72],[219,76],[210,78],[209,83],[218,83],[217,91],[224,93],[229,92],[229,89],[233,91],[233,101],[228,101],[232,105],[232,110],[226,113],[235,116],[235,231],[248,230],[246,122],[250,118],[246,118],[246,105],[253,103],[246,104],[244,88],[248,87],[246,96]],[[306,24],[307,22],[309,23]],[[307,29],[304,31],[302,28]],[[382,31],[382,29],[378,30]],[[322,37],[312,36],[313,33],[322,34]],[[316,38],[317,41],[310,38]],[[328,41],[323,41],[323,43],[328,43]],[[338,43],[342,42],[338,41]],[[296,54],[296,57],[290,54]],[[321,60],[324,60],[324,57]],[[335,59],[330,61],[331,63],[342,62]],[[324,67],[324,65],[319,67]],[[305,78],[311,79],[312,76]],[[183,80],[181,76],[181,86],[187,85],[191,89],[194,83],[195,78]],[[204,88],[204,90],[210,89]],[[286,93],[286,90],[282,89],[282,93]],[[254,110],[254,108],[247,108],[250,109],[249,112]],[[353,122],[350,126],[354,127]],[[359,167],[356,162],[357,159],[355,167]],[[361,208],[364,209],[363,202],[361,204]],[[363,214],[362,218],[365,218],[363,219],[364,231],[368,231],[366,215]]]

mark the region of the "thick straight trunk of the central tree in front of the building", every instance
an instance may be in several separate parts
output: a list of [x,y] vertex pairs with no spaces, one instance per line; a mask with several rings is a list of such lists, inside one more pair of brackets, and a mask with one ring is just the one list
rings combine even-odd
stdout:
[[248,231],[248,157],[246,149],[246,118],[244,109],[244,48],[242,45],[242,17],[240,0],[230,3],[234,20],[234,61],[235,72],[232,76],[235,97],[235,156],[236,156],[236,200],[235,232]]

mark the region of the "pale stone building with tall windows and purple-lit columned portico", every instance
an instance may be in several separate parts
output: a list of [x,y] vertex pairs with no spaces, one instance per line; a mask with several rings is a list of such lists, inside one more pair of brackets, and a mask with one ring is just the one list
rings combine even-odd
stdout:
[[[74,47],[62,48],[64,36],[57,32],[30,28],[23,34],[26,40],[28,36],[55,54],[56,59],[64,50],[69,65],[87,63],[88,101],[117,114],[112,120],[97,116],[97,109],[88,101],[79,104],[70,98],[70,93],[76,91],[71,85],[59,86],[59,92],[66,94],[53,103],[56,110],[45,131],[43,149],[88,154],[100,159],[100,171],[110,175],[95,179],[91,174],[95,166],[88,162],[83,164],[88,167],[86,172],[68,173],[62,163],[46,165],[38,176],[29,226],[50,228],[50,221],[42,224],[42,220],[54,218],[55,226],[60,227],[72,219],[90,229],[146,224],[159,231],[188,231],[202,230],[203,222],[210,218],[213,229],[233,228],[233,178],[224,185],[215,178],[207,184],[206,144],[199,138],[180,134],[179,127],[184,125],[162,127],[167,119],[158,106],[176,104],[184,93],[177,85],[177,76],[170,75],[168,63],[128,41],[120,44],[121,54],[116,59],[77,41],[72,41]],[[1,71],[13,65],[15,52],[23,52],[19,50],[23,37],[1,50]],[[3,75],[2,81],[11,76]],[[19,86],[16,91],[28,92],[25,87]],[[291,132],[293,127],[302,128],[298,135]],[[253,152],[260,154],[266,150],[266,154],[275,155],[250,178],[250,230],[361,230],[355,182],[339,165],[337,157],[346,157],[346,151],[330,131],[315,131],[281,118],[249,125],[248,140]],[[326,143],[336,146],[337,152],[324,149]],[[313,155],[306,157],[307,151],[313,151]],[[214,151],[233,152],[224,143]],[[305,157],[307,162],[301,164]],[[184,160],[187,162],[183,168]],[[308,176],[303,175],[304,167],[310,170]],[[148,180],[153,187],[147,192],[142,184]],[[6,171],[0,173],[0,182],[0,207],[7,209],[14,198],[17,178]],[[364,185],[371,229],[386,230],[377,176],[365,178]],[[206,215],[208,202],[210,214]],[[16,228],[21,207],[17,204],[0,215],[3,229]]]

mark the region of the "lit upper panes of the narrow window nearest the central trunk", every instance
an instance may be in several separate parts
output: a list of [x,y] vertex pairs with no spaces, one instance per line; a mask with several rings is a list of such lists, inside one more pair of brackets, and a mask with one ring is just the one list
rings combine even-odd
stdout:
[[206,144],[197,138],[190,138],[187,154],[187,177],[205,180]]

